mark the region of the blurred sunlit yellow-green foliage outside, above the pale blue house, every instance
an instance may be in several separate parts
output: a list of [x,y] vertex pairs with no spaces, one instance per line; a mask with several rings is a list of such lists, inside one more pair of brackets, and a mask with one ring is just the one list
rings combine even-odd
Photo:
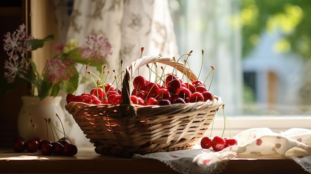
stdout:
[[242,53],[247,56],[259,44],[260,34],[277,29],[283,38],[276,51],[311,58],[311,0],[241,0]]

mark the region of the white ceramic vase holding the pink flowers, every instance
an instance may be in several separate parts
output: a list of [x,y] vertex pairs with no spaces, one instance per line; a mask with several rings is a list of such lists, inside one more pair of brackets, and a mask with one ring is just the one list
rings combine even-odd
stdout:
[[[64,137],[64,133],[62,133],[62,124],[59,118],[56,116],[57,114],[63,122],[64,111],[60,105],[60,101],[62,99],[61,96],[49,96],[42,101],[39,101],[39,98],[34,96],[22,96],[21,99],[22,107],[17,118],[19,136],[23,137],[24,139],[49,139],[52,142],[58,141],[59,138],[61,139]],[[31,128],[30,118],[32,119],[34,127],[30,136],[28,137]],[[52,129],[52,132],[51,126],[49,123],[46,124],[45,118],[50,118],[51,123],[53,123],[53,125],[55,125],[58,130],[55,129],[56,131],[54,131],[54,129]]]

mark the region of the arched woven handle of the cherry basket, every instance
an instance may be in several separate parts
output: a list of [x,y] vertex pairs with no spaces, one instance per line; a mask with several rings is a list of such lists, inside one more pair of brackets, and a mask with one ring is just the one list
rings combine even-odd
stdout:
[[184,72],[191,81],[197,80],[196,75],[194,72],[185,67],[184,63],[175,62],[173,58],[164,58],[161,56],[144,56],[142,58],[137,59],[136,61],[132,62],[131,66],[126,67],[126,73],[123,79],[123,86],[122,86],[122,104],[131,104],[131,92],[130,92],[130,84],[133,83],[134,72],[138,70],[140,67],[147,65],[148,63],[163,63],[172,67],[175,67],[180,72]]

